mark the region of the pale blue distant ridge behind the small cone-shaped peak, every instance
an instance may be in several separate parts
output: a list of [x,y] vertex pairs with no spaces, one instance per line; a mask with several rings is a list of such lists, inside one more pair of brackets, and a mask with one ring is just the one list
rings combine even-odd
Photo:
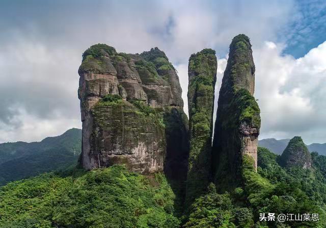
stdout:
[[[258,145],[266,147],[275,154],[281,155],[289,143],[290,139],[262,139],[258,141]],[[319,155],[326,156],[326,143],[312,143],[307,145],[310,152],[316,151]]]

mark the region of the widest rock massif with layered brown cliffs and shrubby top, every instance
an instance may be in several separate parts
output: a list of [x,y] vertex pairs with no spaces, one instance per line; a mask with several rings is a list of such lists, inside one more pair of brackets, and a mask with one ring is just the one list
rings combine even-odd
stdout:
[[[84,168],[123,163],[147,173],[166,165],[185,176],[187,119],[178,75],[164,52],[124,54],[96,44],[83,54],[78,73]],[[177,157],[185,164],[176,167]]]

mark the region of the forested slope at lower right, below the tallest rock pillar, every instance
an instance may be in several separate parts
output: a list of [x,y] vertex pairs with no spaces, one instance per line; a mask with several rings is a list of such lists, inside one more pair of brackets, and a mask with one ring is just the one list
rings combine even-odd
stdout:
[[[312,155],[314,167],[282,168],[279,156],[258,148],[258,173],[253,159],[245,156],[241,167],[243,184],[234,191],[216,193],[210,186],[196,199],[184,227],[307,228],[325,227],[326,157]],[[319,161],[319,162],[318,162]],[[322,172],[323,170],[323,172]],[[260,221],[261,213],[318,214],[318,221]]]

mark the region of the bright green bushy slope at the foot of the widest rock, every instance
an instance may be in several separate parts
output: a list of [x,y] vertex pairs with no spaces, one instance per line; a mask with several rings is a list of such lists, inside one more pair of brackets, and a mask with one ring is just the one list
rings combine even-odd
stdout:
[[73,176],[41,174],[0,188],[0,227],[179,227],[161,173],[114,165]]

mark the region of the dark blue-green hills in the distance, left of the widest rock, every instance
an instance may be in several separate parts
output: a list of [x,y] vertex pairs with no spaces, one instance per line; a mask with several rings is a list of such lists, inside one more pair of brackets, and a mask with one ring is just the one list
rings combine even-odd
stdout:
[[42,172],[76,165],[81,151],[82,130],[75,128],[40,142],[1,143],[0,186]]

